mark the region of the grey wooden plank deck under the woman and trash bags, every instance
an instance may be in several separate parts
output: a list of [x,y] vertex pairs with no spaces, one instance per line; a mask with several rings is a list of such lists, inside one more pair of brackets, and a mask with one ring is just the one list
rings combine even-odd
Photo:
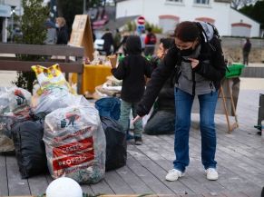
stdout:
[[[91,194],[162,193],[175,196],[259,197],[264,186],[264,140],[253,126],[258,120],[260,91],[240,90],[240,128],[226,133],[224,115],[216,115],[218,147],[216,159],[220,178],[208,181],[200,163],[199,115],[193,114],[190,138],[191,163],[186,176],[166,182],[174,160],[173,135],[144,135],[142,146],[128,145],[127,165],[106,172],[103,181],[82,185]],[[263,91],[262,91],[263,94]],[[52,178],[39,175],[22,180],[14,155],[0,155],[0,196],[33,195],[45,192]]]

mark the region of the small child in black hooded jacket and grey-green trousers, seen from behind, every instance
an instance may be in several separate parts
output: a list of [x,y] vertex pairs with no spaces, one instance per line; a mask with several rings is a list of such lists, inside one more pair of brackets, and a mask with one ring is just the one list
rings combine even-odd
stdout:
[[[129,130],[130,113],[136,117],[136,108],[145,90],[145,76],[151,77],[149,62],[142,56],[141,38],[138,35],[130,35],[123,46],[127,55],[116,67],[112,64],[112,75],[122,80],[121,91],[121,115],[119,123],[123,131]],[[116,58],[116,55],[115,55]],[[134,141],[136,145],[142,144],[142,120],[134,123]]]

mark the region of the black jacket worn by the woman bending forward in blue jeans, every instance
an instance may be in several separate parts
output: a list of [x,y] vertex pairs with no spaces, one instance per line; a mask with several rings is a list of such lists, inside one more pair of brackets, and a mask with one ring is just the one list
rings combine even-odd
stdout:
[[[201,43],[200,55],[198,57],[200,64],[193,71],[212,81],[216,89],[219,89],[220,81],[226,72],[226,64],[219,39],[212,38],[210,44],[214,50],[209,44]],[[170,77],[171,73],[175,71],[175,65],[181,63],[180,54],[180,50],[174,45],[164,57],[161,66],[152,73],[151,81],[147,84],[147,89],[137,109],[137,113],[140,116],[150,112],[152,104],[161,91],[161,87]],[[206,62],[205,60],[209,60],[209,64],[204,63]]]

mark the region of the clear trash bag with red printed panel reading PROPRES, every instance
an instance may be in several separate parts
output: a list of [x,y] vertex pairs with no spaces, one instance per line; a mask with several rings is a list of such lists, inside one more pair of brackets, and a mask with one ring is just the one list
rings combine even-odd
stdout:
[[57,109],[46,115],[44,143],[54,179],[66,176],[80,183],[103,179],[105,135],[92,104]]

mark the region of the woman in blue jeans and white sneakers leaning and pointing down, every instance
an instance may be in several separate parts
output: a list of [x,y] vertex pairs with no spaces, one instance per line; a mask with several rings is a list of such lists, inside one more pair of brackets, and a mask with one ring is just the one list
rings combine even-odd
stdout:
[[[202,28],[202,29],[201,29]],[[203,34],[206,29],[206,34]],[[226,64],[220,40],[209,24],[184,21],[174,31],[175,44],[165,55],[161,66],[154,70],[147,84],[142,101],[138,104],[138,116],[132,123],[149,113],[161,87],[175,71],[175,136],[176,160],[165,179],[173,182],[184,175],[190,163],[189,135],[191,107],[195,96],[200,103],[201,163],[208,180],[217,180],[216,131],[214,114],[220,82],[226,73]],[[210,41],[210,44],[207,41]]]

